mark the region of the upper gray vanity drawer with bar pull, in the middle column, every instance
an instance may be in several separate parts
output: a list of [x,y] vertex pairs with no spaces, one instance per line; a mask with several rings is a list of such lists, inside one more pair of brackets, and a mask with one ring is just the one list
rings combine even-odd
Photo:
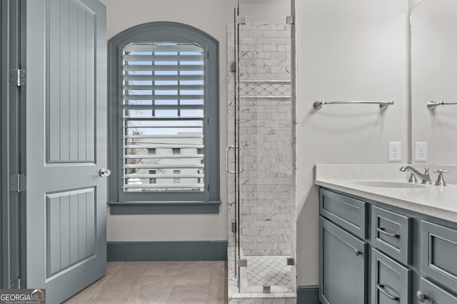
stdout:
[[411,263],[412,219],[376,206],[371,208],[371,244],[402,263]]

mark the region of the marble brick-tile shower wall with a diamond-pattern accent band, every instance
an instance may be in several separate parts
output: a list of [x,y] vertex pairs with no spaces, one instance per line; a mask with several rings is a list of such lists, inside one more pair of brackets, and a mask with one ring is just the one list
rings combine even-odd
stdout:
[[[229,145],[235,136],[235,29],[229,24]],[[246,256],[290,256],[294,237],[291,25],[239,29],[241,247]],[[233,159],[232,159],[233,160]],[[229,246],[235,246],[235,184],[229,174]]]

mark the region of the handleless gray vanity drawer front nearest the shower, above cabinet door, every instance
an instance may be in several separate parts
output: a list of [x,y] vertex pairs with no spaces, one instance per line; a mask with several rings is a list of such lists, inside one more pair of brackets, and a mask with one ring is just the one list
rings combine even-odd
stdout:
[[366,239],[366,203],[349,196],[321,189],[320,212],[356,236]]

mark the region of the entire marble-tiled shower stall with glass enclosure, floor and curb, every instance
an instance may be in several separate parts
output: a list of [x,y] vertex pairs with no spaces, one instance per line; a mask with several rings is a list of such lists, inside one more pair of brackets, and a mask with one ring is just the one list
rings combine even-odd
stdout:
[[252,3],[228,26],[229,304],[296,303],[291,2]]

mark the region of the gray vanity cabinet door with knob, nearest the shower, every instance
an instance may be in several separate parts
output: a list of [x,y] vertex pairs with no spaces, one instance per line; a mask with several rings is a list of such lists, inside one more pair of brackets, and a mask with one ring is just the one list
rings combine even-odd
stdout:
[[368,243],[319,219],[319,298],[323,304],[368,303]]

